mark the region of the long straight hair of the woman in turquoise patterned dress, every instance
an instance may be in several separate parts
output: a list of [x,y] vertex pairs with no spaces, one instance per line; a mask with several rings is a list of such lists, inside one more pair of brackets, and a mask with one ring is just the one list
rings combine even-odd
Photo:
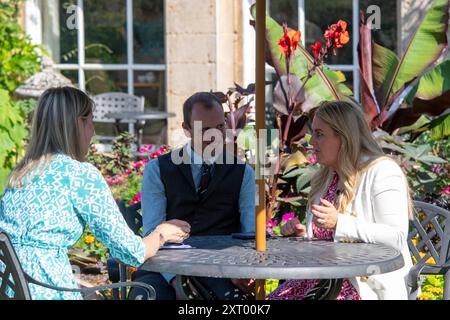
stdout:
[[92,99],[76,88],[46,90],[34,111],[27,151],[12,171],[8,187],[23,186],[24,177],[37,167],[45,167],[55,154],[62,153],[82,161],[78,119],[88,117],[93,108]]

